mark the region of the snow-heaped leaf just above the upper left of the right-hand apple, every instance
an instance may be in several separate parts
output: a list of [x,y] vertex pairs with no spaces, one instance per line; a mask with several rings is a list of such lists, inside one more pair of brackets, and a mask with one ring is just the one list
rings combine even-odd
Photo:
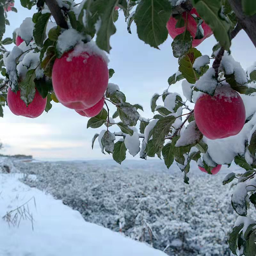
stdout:
[[214,95],[217,85],[218,81],[215,77],[215,70],[214,68],[209,68],[206,73],[196,81],[195,88],[200,92]]

